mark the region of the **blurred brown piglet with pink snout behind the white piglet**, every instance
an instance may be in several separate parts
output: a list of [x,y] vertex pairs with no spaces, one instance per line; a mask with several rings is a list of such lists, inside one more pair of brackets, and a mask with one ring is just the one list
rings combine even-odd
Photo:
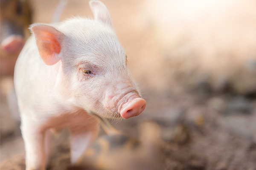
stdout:
[[13,77],[16,59],[29,37],[29,0],[0,0],[0,76]]

